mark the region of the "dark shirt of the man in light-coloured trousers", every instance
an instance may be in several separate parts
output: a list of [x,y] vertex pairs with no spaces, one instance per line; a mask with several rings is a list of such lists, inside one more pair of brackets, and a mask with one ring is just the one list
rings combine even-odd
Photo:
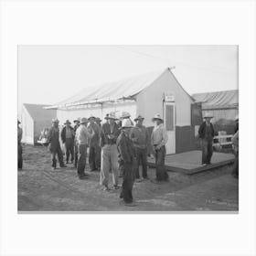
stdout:
[[[109,123],[103,123],[101,125],[101,146],[104,146],[105,144],[116,144],[116,139],[119,134],[120,130],[116,123],[113,124],[112,131]],[[112,135],[113,138],[110,138],[110,135]]]

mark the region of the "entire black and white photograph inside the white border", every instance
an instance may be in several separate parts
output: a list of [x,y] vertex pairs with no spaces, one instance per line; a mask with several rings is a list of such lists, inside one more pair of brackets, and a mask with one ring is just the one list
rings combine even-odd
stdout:
[[18,212],[239,211],[237,45],[17,46]]

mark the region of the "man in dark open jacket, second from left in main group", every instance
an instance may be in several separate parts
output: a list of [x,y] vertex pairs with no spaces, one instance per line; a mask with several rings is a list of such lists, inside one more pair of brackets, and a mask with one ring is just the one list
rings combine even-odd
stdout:
[[69,120],[64,124],[65,126],[61,131],[60,137],[66,148],[66,164],[69,164],[69,154],[71,154],[71,164],[73,164],[75,131],[74,128],[71,127]]

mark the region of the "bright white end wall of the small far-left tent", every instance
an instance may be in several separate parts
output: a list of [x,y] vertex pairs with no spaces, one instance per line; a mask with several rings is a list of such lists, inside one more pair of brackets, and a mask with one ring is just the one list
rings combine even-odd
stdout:
[[34,121],[24,107],[21,113],[21,128],[23,130],[22,143],[34,144]]

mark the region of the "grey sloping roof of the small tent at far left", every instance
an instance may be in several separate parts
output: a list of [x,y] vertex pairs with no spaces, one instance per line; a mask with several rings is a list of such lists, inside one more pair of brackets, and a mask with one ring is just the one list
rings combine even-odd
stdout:
[[45,110],[45,107],[49,105],[42,105],[42,104],[23,104],[24,107],[27,109],[27,112],[31,116],[34,121],[39,120],[51,120],[56,118],[56,110]]

